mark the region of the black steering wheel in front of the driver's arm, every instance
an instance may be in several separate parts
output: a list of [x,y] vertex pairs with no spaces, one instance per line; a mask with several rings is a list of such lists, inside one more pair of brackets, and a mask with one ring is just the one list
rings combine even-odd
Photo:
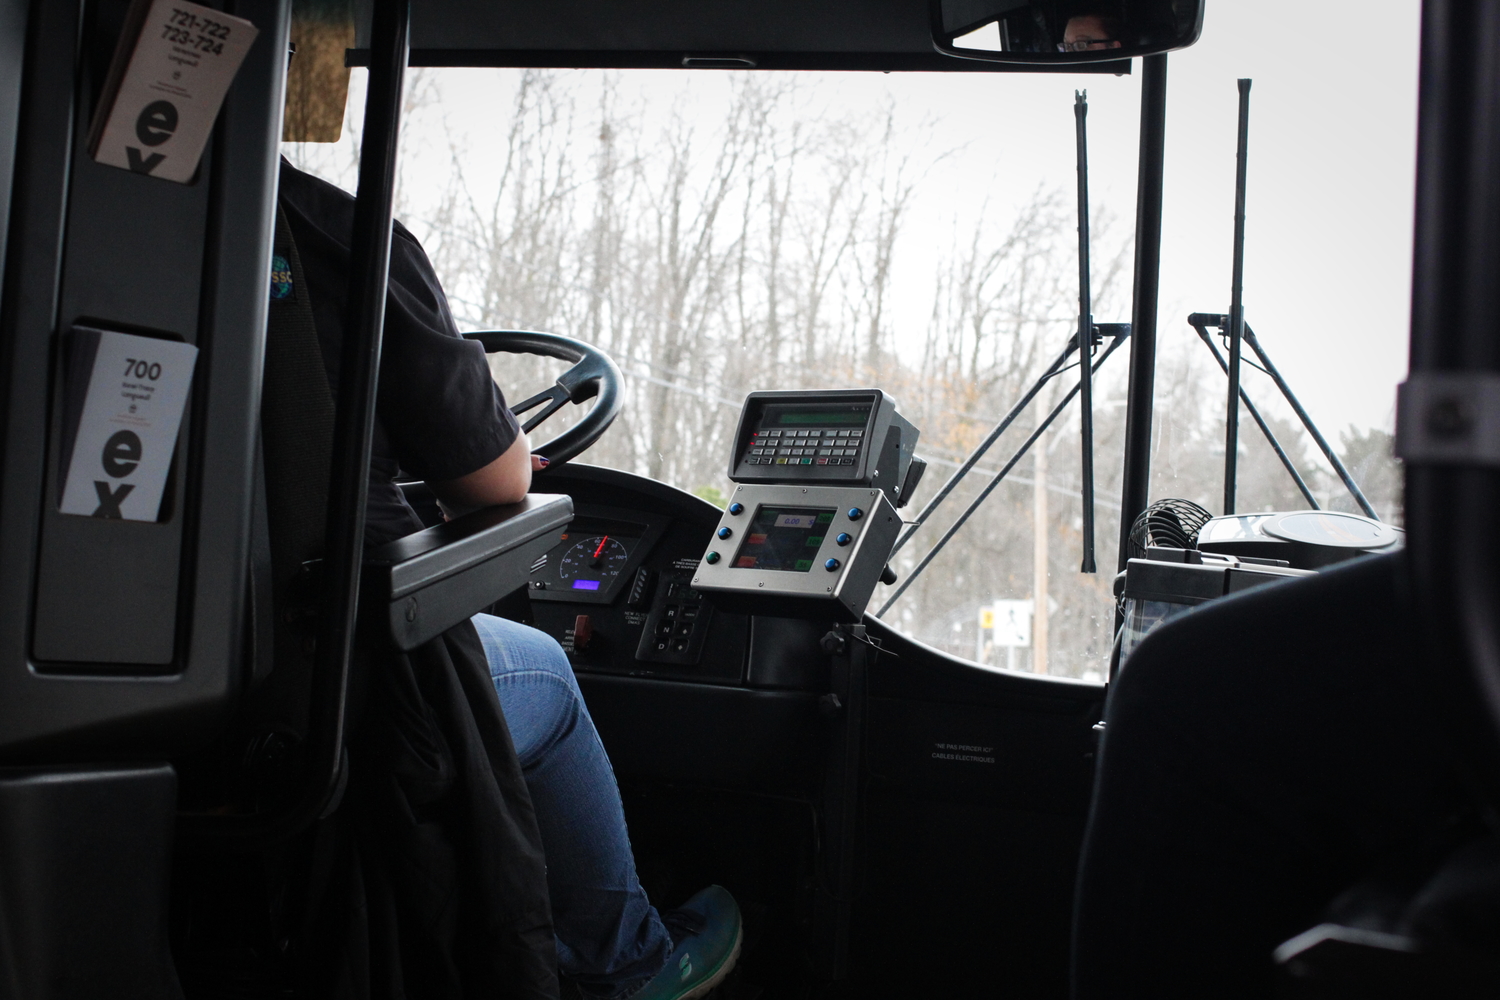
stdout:
[[561,409],[564,403],[582,403],[586,399],[598,397],[598,402],[594,403],[594,408],[580,421],[544,445],[532,448],[532,454],[546,456],[552,465],[567,462],[598,441],[600,435],[620,415],[620,366],[598,348],[574,340],[573,337],[540,333],[537,330],[477,330],[465,333],[464,337],[466,340],[478,340],[484,345],[484,354],[495,354],[498,351],[504,351],[506,354],[540,354],[573,363],[573,367],[562,372],[550,388],[510,408],[510,412],[519,417],[528,409],[546,403],[542,412],[520,424],[520,429],[526,433],[531,433],[532,427]]

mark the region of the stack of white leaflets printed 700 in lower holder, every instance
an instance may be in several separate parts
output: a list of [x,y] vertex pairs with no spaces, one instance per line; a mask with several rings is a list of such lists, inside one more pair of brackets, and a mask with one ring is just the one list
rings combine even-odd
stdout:
[[75,327],[64,417],[64,514],[156,520],[198,348]]

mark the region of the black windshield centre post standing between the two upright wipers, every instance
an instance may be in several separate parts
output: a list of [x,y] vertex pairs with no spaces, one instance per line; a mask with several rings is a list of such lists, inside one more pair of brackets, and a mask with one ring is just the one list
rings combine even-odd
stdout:
[[1156,306],[1161,277],[1161,172],[1167,141],[1167,57],[1142,60],[1140,166],[1136,180],[1136,288],[1131,303],[1130,391],[1120,486],[1119,568],[1130,526],[1150,495],[1150,411],[1156,381]]

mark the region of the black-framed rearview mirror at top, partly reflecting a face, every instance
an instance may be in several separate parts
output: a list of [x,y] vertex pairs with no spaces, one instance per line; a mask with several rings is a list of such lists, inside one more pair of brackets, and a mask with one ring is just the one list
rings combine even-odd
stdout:
[[1203,0],[933,0],[933,45],[992,63],[1102,63],[1198,40]]

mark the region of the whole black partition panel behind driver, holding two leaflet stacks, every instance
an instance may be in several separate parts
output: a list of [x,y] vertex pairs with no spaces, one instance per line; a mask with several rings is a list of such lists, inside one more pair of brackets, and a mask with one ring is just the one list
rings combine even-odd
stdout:
[[[0,49],[27,43],[0,286],[0,760],[170,753],[212,732],[243,661],[290,1],[216,4],[260,37],[189,184],[84,148],[126,0],[9,6],[26,22],[0,16]],[[58,513],[78,324],[200,348],[154,523]]]

